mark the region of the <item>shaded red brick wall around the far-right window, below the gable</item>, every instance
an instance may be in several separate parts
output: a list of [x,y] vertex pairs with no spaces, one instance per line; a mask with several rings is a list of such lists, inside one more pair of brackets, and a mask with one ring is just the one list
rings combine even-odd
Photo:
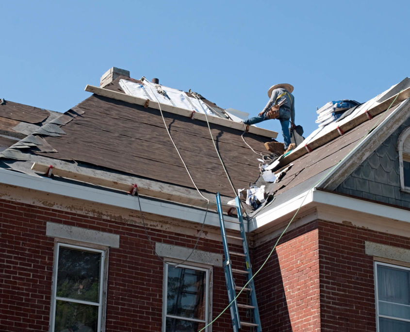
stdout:
[[371,241],[410,249],[410,239],[331,222],[319,222],[322,332],[376,331]]

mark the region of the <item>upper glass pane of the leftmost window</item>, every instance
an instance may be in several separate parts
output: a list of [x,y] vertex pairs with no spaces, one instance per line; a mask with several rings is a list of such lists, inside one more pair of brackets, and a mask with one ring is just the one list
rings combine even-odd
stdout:
[[57,297],[98,302],[101,254],[60,247]]

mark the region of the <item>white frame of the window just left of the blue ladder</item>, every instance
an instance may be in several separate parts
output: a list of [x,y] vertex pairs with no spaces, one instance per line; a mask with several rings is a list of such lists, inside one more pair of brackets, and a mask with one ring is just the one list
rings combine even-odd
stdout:
[[[171,261],[171,260],[168,260]],[[167,262],[164,262],[164,291],[163,291],[163,327],[162,327],[162,332],[165,332],[165,327],[166,327],[166,318],[177,318],[181,320],[190,320],[194,322],[200,322],[200,323],[205,323],[205,325],[209,324],[210,322],[210,313],[212,312],[212,297],[210,292],[212,291],[212,284],[211,284],[211,278],[212,278],[212,266],[204,266],[201,264],[193,264],[193,265],[187,265],[186,263],[183,265],[178,265],[177,267],[185,267],[185,268],[190,268],[192,270],[199,270],[199,271],[204,271],[206,272],[205,275],[205,282],[206,282],[206,287],[205,287],[205,321],[199,320],[199,319],[194,319],[194,318],[185,318],[185,317],[180,317],[180,316],[174,316],[174,315],[167,315],[166,314],[166,309],[167,309],[167,295],[168,295],[168,266],[172,266],[171,264],[167,264]],[[210,327],[206,327],[205,332],[212,332]]]

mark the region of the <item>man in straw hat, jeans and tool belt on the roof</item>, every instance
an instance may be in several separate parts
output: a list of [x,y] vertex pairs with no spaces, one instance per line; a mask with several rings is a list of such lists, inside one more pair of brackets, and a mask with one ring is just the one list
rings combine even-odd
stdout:
[[[295,129],[295,98],[292,95],[293,86],[291,84],[275,84],[268,90],[270,100],[265,108],[254,116],[244,120],[246,131],[249,125],[259,123],[269,119],[278,119],[282,126],[282,135],[285,142],[285,149],[291,144],[289,124]],[[290,121],[289,121],[290,120]]]

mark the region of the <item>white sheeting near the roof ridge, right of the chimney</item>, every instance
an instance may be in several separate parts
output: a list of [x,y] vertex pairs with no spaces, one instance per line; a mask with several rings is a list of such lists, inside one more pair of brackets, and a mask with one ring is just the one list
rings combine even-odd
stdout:
[[127,80],[119,81],[120,87],[127,95],[149,99],[153,102],[157,102],[158,99],[161,104],[199,113],[204,113],[205,110],[208,115],[213,116],[212,110],[202,100],[198,101],[196,98],[188,97],[187,94],[181,90],[161,85],[161,88],[165,92],[165,95],[163,95],[157,91],[156,84],[148,82],[147,80],[144,80],[144,84],[145,85]]

